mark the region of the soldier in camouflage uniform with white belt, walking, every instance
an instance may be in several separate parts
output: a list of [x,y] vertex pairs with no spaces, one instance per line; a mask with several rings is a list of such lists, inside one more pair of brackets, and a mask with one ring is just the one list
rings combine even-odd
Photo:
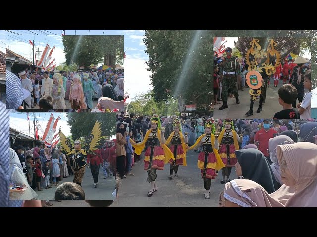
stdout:
[[223,105],[219,108],[219,110],[223,110],[228,108],[228,91],[236,97],[237,104],[240,104],[239,94],[237,88],[237,76],[239,79],[241,78],[241,71],[238,58],[231,56],[232,48],[226,48],[226,54],[224,61],[221,65],[220,75],[222,76],[222,93],[221,99],[223,101]]

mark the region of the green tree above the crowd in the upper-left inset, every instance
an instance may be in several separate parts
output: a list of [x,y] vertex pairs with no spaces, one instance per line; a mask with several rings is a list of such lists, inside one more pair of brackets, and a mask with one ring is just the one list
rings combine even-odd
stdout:
[[63,36],[66,64],[88,67],[123,61],[123,36]]

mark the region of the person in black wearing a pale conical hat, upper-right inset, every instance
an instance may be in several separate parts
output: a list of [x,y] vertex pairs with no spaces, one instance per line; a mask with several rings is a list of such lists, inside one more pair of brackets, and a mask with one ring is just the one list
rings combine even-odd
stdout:
[[[291,76],[291,83],[292,85],[295,86],[295,88],[297,89],[297,98],[298,102],[302,102],[303,97],[304,97],[304,76],[307,70],[309,70],[309,68],[307,66],[305,66],[305,63],[308,63],[308,60],[303,58],[302,56],[299,56],[294,63],[297,64],[297,66],[295,66],[293,68],[293,73]],[[292,103],[292,106],[294,108],[296,108],[296,99],[295,101]]]

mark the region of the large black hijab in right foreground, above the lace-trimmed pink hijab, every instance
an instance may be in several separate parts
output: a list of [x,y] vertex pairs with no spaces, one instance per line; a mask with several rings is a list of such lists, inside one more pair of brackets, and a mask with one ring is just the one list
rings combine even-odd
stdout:
[[248,148],[237,150],[235,154],[244,179],[250,179],[260,184],[269,194],[278,189],[273,171],[262,152],[258,149]]

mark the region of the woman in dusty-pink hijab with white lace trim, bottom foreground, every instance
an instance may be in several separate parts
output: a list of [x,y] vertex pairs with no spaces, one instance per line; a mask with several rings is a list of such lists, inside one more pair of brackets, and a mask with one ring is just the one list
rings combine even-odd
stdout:
[[258,183],[234,179],[225,184],[223,207],[285,207]]

